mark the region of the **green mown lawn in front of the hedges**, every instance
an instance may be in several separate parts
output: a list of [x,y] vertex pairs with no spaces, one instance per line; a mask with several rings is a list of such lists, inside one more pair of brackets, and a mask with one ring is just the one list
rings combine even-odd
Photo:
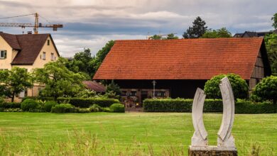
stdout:
[[[205,113],[216,145],[221,114]],[[188,155],[190,113],[0,113],[1,155]],[[239,155],[277,155],[277,114],[236,114]]]

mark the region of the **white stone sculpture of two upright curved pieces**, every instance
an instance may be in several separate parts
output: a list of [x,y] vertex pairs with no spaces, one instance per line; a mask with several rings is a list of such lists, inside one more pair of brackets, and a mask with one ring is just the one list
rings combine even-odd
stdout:
[[195,133],[192,136],[191,149],[237,150],[231,134],[234,123],[234,94],[227,77],[221,79],[219,88],[223,101],[223,118],[219,132],[217,133],[217,147],[207,145],[207,131],[205,130],[203,122],[203,106],[206,95],[202,89],[197,88],[192,104],[192,123],[195,128]]

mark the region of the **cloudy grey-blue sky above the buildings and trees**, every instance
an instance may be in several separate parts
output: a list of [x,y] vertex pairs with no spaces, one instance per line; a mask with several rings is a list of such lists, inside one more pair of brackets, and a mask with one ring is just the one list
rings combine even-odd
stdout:
[[[225,27],[232,34],[272,30],[276,0],[0,0],[0,18],[39,13],[43,24],[60,23],[51,33],[63,57],[90,48],[95,55],[109,40],[146,39],[148,35],[176,33],[180,38],[200,16],[208,28]],[[0,23],[34,23],[34,16],[0,19]],[[32,30],[26,28],[24,32]],[[0,27],[22,34],[21,28]]]

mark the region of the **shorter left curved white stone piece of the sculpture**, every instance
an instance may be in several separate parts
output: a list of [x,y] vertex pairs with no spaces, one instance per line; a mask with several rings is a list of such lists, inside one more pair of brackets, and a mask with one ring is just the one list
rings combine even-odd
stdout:
[[206,95],[204,91],[197,88],[192,104],[192,123],[195,133],[192,136],[192,146],[207,146],[207,131],[203,122],[203,106]]

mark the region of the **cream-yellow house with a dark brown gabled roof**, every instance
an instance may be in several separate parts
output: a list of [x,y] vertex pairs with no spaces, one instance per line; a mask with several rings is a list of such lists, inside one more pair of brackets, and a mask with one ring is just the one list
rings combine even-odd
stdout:
[[[0,32],[0,69],[22,67],[31,72],[32,69],[57,60],[59,56],[50,34],[13,35]],[[18,96],[38,96],[42,87],[35,84],[32,89]]]

